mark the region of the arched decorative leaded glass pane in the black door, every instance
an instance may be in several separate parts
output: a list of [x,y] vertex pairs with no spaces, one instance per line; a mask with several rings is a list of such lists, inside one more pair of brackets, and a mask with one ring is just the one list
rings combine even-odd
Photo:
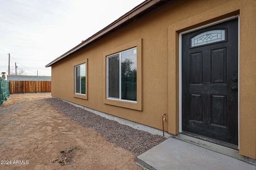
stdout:
[[191,47],[202,46],[224,40],[226,40],[225,29],[205,31],[191,38]]

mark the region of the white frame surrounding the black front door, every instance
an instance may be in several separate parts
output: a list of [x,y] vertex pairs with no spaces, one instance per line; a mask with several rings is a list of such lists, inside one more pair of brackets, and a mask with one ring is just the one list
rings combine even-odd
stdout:
[[185,33],[189,33],[189,32],[193,32],[199,29],[203,29],[206,27],[210,27],[212,25],[218,24],[218,23],[222,23],[222,22],[226,22],[229,20],[233,20],[233,19],[238,19],[238,149],[239,149],[239,82],[240,82],[240,77],[239,77],[239,49],[240,49],[240,45],[239,45],[239,37],[240,37],[240,18],[239,15],[235,15],[235,16],[231,16],[229,18],[225,18],[219,21],[215,21],[209,24],[205,24],[202,25],[201,27],[197,27],[194,29],[190,29],[187,31],[183,31],[179,33],[179,132],[182,132],[182,35]]

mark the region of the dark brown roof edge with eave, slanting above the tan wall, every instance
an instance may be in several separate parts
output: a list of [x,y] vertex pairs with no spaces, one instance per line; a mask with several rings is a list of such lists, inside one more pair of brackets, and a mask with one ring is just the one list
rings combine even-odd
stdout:
[[164,0],[164,1],[163,0],[146,0],[146,1],[142,2],[141,4],[135,6],[131,11],[125,13],[120,18],[118,18],[114,22],[112,22],[109,25],[107,25],[107,27],[101,29],[100,31],[98,31],[97,33],[92,35],[91,37],[89,37],[86,40],[82,41],[82,43],[78,44],[74,48],[70,49],[68,52],[66,52],[66,53],[62,54],[61,56],[59,56],[58,58],[55,58],[55,60],[53,60],[49,64],[45,65],[45,67],[50,67],[54,63],[57,63],[58,61],[62,60],[63,58],[65,58],[67,56],[69,56],[70,54],[73,54],[74,52],[76,52],[77,50],[83,48],[84,46],[89,45],[93,41],[95,41],[95,40],[99,39],[100,37],[106,35],[110,31],[116,29],[119,25],[121,25],[121,24],[123,24],[123,23],[125,23],[125,22],[127,22],[129,20],[132,20],[132,18],[134,18],[135,16],[138,16],[139,14],[141,14],[142,12],[148,10],[150,7],[153,7],[154,5],[156,5],[159,2],[167,3],[169,1],[168,0]]

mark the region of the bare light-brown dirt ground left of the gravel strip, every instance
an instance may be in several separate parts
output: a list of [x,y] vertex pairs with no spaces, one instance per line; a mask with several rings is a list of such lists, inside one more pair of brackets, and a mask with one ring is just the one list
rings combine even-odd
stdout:
[[[0,169],[140,169],[131,152],[42,100],[50,97],[50,93],[13,94],[0,107]],[[69,147],[81,148],[71,164],[51,163]],[[3,165],[6,160],[11,165]],[[14,160],[20,162],[13,164]]]

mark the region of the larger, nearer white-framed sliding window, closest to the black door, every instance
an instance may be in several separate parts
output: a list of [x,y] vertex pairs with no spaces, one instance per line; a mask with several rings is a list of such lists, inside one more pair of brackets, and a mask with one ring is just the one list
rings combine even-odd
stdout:
[[107,56],[107,98],[137,102],[137,47]]

